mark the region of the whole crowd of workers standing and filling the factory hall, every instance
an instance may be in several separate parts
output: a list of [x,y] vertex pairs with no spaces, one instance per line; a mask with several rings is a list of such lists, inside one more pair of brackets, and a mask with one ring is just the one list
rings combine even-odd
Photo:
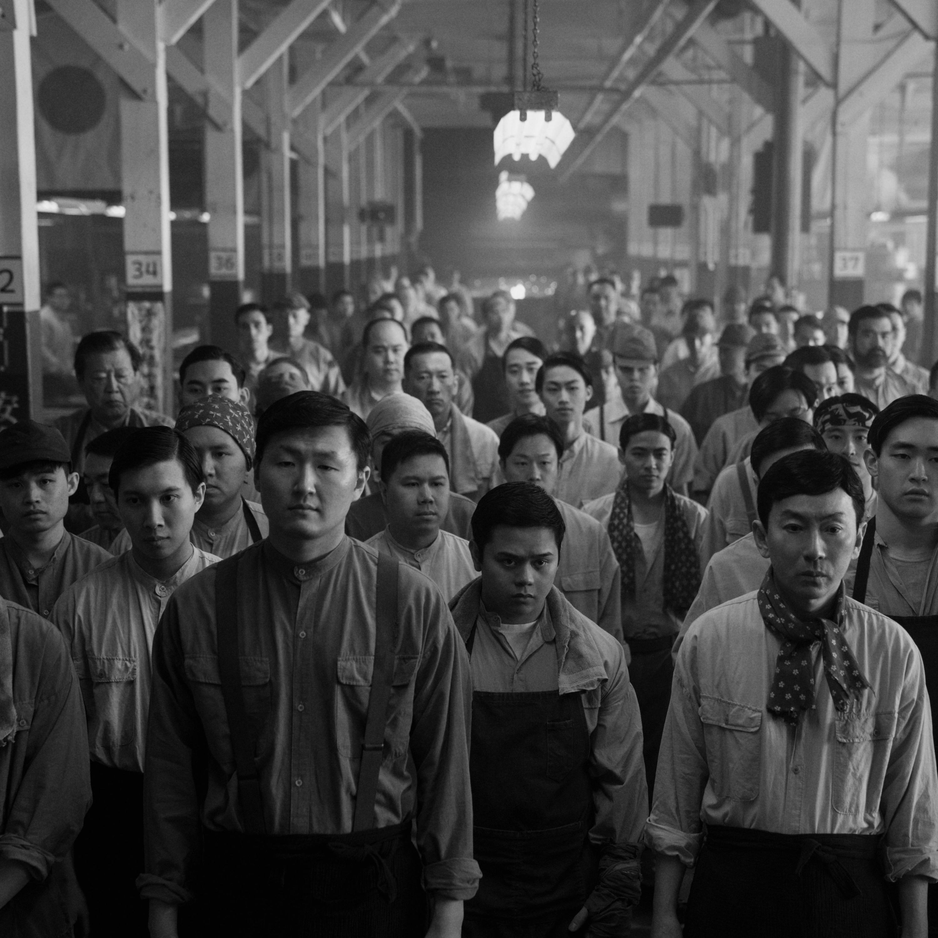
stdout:
[[0,431],[0,934],[925,938],[938,367],[791,298],[293,294],[174,417],[86,334]]

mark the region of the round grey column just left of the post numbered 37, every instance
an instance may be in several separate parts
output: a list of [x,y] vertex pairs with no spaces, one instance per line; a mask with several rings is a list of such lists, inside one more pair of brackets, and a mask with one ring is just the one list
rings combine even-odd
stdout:
[[772,168],[772,270],[794,286],[801,272],[801,185],[805,145],[801,96],[805,66],[801,56],[786,43],[779,43],[779,62]]

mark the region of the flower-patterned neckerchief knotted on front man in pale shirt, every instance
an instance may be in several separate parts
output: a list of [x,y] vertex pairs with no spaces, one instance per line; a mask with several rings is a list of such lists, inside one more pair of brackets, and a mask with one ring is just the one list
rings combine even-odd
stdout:
[[802,710],[814,710],[814,665],[811,643],[821,643],[824,672],[830,696],[838,710],[845,710],[851,697],[859,697],[870,684],[860,672],[854,653],[840,631],[844,588],[840,583],[834,620],[799,619],[781,598],[775,574],[769,567],[759,587],[759,612],[765,628],[779,636],[781,648],[766,707],[773,717],[793,726]]

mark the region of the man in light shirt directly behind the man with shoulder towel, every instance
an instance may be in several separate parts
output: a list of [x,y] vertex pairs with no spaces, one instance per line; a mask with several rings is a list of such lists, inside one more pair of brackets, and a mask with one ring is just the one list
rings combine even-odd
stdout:
[[[534,482],[553,495],[564,454],[564,438],[544,416],[525,414],[508,424],[498,443],[508,482]],[[574,609],[622,641],[619,564],[605,528],[584,511],[554,499],[567,533],[553,584]]]

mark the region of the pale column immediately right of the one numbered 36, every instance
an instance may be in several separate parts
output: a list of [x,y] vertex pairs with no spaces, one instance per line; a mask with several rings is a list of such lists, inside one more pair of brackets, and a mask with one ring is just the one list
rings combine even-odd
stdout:
[[261,297],[265,303],[290,290],[293,238],[290,211],[289,53],[267,69],[264,78],[268,145],[261,150]]

